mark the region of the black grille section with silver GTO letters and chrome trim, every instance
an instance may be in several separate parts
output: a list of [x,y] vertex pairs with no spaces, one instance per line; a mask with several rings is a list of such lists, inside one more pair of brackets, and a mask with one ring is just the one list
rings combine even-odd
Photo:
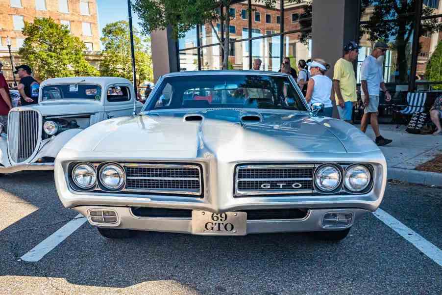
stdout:
[[278,195],[313,192],[313,164],[240,165],[235,195]]

